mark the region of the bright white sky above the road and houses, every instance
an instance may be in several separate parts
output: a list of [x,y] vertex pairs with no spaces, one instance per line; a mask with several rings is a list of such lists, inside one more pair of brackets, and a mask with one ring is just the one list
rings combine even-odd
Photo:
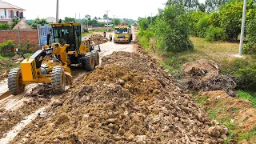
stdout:
[[[56,17],[56,0],[4,0],[25,9],[26,19]],[[59,0],[59,18],[84,18],[89,14],[102,18],[109,11],[110,18],[148,17],[158,14],[158,8],[164,8],[167,0]],[[199,2],[204,0],[199,0]],[[115,16],[114,16],[115,15]]]

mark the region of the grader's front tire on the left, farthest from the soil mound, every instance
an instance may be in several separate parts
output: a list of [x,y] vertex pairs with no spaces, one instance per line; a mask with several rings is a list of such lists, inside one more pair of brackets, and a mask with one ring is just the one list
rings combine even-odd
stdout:
[[10,70],[7,82],[10,94],[17,95],[25,90],[25,85],[22,84],[22,70],[20,68]]

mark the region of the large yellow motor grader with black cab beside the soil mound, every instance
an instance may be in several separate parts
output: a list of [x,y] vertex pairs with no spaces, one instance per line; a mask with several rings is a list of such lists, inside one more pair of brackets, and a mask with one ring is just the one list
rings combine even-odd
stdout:
[[[99,64],[99,50],[90,46],[90,39],[82,40],[81,23],[56,23],[53,27],[54,42],[47,36],[47,45],[20,63],[20,68],[10,70],[8,88],[10,94],[20,94],[30,83],[50,83],[54,94],[62,94],[66,84],[72,83],[70,66],[80,66],[84,70],[94,70]],[[50,55],[54,58],[42,64]]]

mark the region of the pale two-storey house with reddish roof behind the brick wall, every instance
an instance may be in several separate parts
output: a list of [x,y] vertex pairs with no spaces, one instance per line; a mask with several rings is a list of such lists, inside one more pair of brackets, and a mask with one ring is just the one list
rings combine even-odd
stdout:
[[24,9],[14,6],[8,2],[0,0],[0,22],[11,23],[12,18],[25,18],[23,16]]

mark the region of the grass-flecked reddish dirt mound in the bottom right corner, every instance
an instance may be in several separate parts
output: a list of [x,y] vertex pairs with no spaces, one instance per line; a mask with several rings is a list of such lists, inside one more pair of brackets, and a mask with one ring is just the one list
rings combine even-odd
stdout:
[[230,97],[222,90],[204,92],[197,98],[206,110],[216,113],[216,120],[229,125],[233,134],[230,143],[256,143],[256,110],[252,102]]

